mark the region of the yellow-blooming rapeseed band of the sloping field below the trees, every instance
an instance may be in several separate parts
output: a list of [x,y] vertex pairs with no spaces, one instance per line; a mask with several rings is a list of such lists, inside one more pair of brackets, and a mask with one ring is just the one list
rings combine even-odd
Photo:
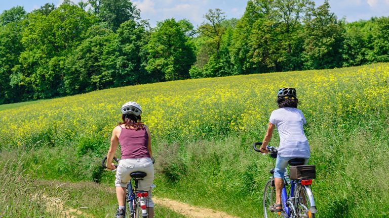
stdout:
[[368,119],[387,107],[389,64],[304,72],[182,80],[94,91],[0,111],[0,148],[109,139],[120,107],[137,101],[154,138],[196,140],[256,134],[276,108],[278,89],[293,86],[307,120],[323,127]]

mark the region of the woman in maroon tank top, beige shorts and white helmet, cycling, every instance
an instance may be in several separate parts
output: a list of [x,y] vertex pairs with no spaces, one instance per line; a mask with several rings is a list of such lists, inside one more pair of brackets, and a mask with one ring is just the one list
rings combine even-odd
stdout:
[[154,203],[152,201],[151,186],[154,180],[154,168],[152,165],[150,131],[141,122],[142,108],[136,102],[130,101],[122,106],[122,120],[112,131],[111,145],[107,154],[106,167],[115,169],[112,163],[113,155],[121,146],[122,157],[116,169],[116,197],[119,208],[115,218],[123,218],[126,214],[125,197],[126,187],[135,171],[145,172],[147,176],[140,180],[138,188],[149,192],[148,197],[148,217],[154,216]]

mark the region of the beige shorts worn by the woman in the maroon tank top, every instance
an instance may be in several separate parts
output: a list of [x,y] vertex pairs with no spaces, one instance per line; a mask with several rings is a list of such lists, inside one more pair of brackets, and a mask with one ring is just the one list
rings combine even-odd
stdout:
[[116,187],[126,187],[131,177],[130,174],[135,171],[145,172],[147,176],[143,180],[138,181],[138,189],[148,191],[148,204],[149,207],[154,207],[152,201],[151,185],[154,180],[154,166],[152,165],[151,158],[131,158],[121,159],[119,161],[118,169],[116,170]]

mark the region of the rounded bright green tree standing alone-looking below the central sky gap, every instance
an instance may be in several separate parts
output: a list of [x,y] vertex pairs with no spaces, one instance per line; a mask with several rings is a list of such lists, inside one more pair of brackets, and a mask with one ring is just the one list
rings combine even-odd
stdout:
[[189,77],[189,68],[196,58],[193,44],[175,19],[159,22],[145,49],[148,53],[145,69],[154,81]]

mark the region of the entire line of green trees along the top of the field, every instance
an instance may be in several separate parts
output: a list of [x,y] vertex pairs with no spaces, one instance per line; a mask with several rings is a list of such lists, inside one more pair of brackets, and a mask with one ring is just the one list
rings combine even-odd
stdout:
[[197,28],[151,28],[130,0],[64,1],[0,15],[0,103],[188,78],[389,62],[389,18],[347,23],[309,0],[210,9]]

